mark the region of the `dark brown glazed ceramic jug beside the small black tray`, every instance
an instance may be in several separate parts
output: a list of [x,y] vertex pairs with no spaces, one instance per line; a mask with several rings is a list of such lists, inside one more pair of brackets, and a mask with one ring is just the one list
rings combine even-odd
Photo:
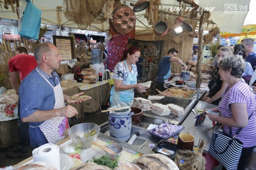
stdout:
[[180,149],[193,151],[194,136],[190,135],[189,133],[180,133],[177,144],[180,145]]

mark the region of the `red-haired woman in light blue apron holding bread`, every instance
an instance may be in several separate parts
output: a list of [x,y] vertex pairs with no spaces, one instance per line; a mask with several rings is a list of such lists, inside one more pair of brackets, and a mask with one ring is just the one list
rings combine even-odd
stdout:
[[137,84],[137,66],[140,50],[136,46],[131,46],[123,51],[120,62],[114,69],[114,86],[110,91],[111,107],[123,104],[131,106],[133,104],[134,89],[139,92],[145,92],[145,88]]

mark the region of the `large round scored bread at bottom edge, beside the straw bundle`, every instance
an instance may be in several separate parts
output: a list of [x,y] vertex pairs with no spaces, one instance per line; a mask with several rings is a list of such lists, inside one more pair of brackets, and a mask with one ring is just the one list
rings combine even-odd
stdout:
[[133,160],[142,170],[179,170],[178,166],[163,154],[146,154]]

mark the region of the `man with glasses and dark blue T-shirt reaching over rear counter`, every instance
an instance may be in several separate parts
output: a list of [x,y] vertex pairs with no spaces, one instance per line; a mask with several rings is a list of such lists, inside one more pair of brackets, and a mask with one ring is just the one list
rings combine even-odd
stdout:
[[156,89],[164,91],[163,86],[169,78],[180,76],[180,74],[171,73],[171,62],[178,62],[184,70],[187,69],[187,65],[177,58],[178,51],[175,48],[171,48],[168,51],[168,55],[164,56],[158,63],[158,73],[157,73],[157,86]]

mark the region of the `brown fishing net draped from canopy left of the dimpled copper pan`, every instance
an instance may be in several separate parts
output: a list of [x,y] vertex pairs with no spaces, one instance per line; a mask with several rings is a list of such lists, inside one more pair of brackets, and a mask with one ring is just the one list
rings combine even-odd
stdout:
[[104,5],[106,0],[64,0],[66,6],[65,17],[77,23],[82,30],[86,29],[91,23],[102,23],[104,18]]

